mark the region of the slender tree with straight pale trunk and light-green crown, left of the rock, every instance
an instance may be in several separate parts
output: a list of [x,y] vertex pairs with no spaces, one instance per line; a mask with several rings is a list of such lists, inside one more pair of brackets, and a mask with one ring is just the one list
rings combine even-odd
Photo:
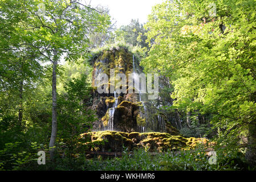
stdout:
[[53,159],[57,134],[58,62],[63,56],[69,61],[81,55],[87,56],[89,32],[104,30],[109,24],[109,16],[79,1],[24,1],[18,5],[18,8],[14,6],[11,10],[15,14],[24,12],[23,15],[26,15],[26,20],[18,19],[19,24],[26,23],[26,28],[15,27],[19,35],[27,38],[29,48],[40,53],[41,61],[52,64],[52,133],[49,147]]

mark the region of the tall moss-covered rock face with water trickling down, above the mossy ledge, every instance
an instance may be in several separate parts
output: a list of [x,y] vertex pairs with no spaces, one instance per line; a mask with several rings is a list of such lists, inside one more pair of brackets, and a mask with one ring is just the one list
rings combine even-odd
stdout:
[[[128,49],[124,47],[105,49],[96,53],[92,57],[91,63],[94,66],[92,72],[92,86],[94,87],[92,96],[94,99],[91,109],[95,110],[97,115],[97,121],[93,125],[94,131],[115,130],[127,133],[159,131],[178,135],[178,130],[173,127],[171,122],[172,118],[168,118],[164,113],[159,113],[159,108],[156,106],[157,101],[149,101],[147,94],[135,93],[134,87],[128,87],[130,73],[143,73],[139,59]],[[110,89],[105,93],[97,92],[99,85],[96,84],[96,78],[100,73],[109,77],[107,82],[100,85],[101,88],[113,85],[111,79],[115,81],[114,87],[120,81],[116,77],[110,78],[111,70],[115,72],[115,76],[118,73],[124,73],[127,78],[124,88],[127,92],[111,93]],[[132,90],[132,93],[128,93],[129,90]]]

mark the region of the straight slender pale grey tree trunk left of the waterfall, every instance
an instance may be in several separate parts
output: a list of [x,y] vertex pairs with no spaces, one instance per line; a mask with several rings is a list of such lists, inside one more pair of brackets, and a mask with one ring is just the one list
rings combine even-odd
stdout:
[[50,159],[54,160],[54,147],[57,134],[57,90],[56,90],[56,68],[58,61],[56,60],[57,52],[54,50],[54,61],[52,63],[52,127],[51,127],[51,139],[50,139]]

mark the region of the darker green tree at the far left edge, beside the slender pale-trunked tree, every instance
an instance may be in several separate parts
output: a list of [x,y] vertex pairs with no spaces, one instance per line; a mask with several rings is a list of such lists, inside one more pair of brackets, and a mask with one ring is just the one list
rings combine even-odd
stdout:
[[[27,26],[27,14],[17,11],[22,9],[23,3],[1,1],[0,6],[0,90],[9,100],[13,97],[13,103],[9,103],[9,106],[15,108],[18,105],[17,126],[22,129],[23,90],[32,88],[35,81],[42,76],[43,69],[38,59],[39,52],[27,45],[31,39],[24,31]],[[15,112],[12,113],[15,115]]]

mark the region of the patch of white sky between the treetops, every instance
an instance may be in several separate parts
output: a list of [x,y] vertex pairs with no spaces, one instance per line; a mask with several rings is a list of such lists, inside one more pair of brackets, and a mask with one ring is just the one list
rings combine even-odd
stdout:
[[162,3],[163,0],[86,0],[87,4],[108,6],[109,14],[116,20],[116,27],[127,25],[131,19],[139,19],[140,23],[146,23],[152,7]]

